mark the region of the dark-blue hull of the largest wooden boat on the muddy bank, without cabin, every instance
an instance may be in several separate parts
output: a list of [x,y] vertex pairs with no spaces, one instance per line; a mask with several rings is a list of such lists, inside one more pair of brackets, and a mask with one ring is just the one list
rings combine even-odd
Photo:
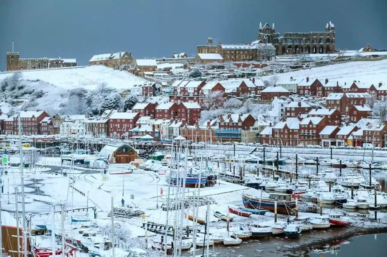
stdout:
[[[243,205],[250,209],[265,209],[267,211],[274,212],[274,200],[271,199],[260,199],[250,197],[247,195],[242,196]],[[278,214],[289,214],[293,213],[293,209],[296,207],[296,201],[277,201],[277,213]]]

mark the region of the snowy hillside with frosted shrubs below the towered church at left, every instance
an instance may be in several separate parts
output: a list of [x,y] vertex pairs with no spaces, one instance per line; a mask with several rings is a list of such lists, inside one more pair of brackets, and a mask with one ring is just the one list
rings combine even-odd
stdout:
[[[113,97],[118,92],[134,85],[149,83],[127,71],[114,70],[102,65],[47,70],[26,70],[19,73],[21,78],[12,87],[14,73],[1,73],[2,91],[10,100],[22,99],[24,109],[41,109],[49,112],[63,112],[63,108],[77,105],[84,109],[79,99],[85,99],[87,92],[93,92],[101,103],[104,97]],[[7,79],[8,87],[4,86]],[[104,97],[99,94],[99,85],[105,83]],[[79,98],[80,97],[80,98]],[[82,100],[83,101],[83,100]],[[95,106],[97,108],[98,106]],[[69,111],[69,110],[68,110]],[[77,112],[72,109],[69,112]]]

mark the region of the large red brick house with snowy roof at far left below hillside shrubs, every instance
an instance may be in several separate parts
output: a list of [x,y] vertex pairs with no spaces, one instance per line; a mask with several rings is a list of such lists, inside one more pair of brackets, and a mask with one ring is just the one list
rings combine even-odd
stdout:
[[[50,117],[47,112],[45,111],[21,111],[20,112],[21,117],[21,124],[22,124],[22,134],[24,135],[37,135],[40,133],[40,122],[45,117]],[[14,122],[13,122],[13,134],[18,134],[18,117],[17,114],[14,115]]]

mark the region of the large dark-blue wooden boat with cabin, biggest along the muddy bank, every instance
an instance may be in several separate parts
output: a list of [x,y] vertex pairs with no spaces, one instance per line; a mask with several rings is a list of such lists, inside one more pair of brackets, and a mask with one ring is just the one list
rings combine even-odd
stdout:
[[249,209],[265,209],[274,212],[275,203],[277,203],[278,214],[294,214],[296,200],[291,198],[291,194],[270,193],[267,197],[253,197],[249,195],[242,196],[243,205]]

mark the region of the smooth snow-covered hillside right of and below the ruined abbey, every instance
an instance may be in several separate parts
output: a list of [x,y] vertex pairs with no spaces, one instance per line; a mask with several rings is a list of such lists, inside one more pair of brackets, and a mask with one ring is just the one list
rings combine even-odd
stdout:
[[[291,71],[278,74],[280,80],[286,78],[318,78],[324,81],[352,82],[353,80],[361,83],[377,85],[379,82],[387,82],[387,60],[382,61],[351,61],[335,65],[310,68],[308,70]],[[262,77],[265,80],[265,77]]]

